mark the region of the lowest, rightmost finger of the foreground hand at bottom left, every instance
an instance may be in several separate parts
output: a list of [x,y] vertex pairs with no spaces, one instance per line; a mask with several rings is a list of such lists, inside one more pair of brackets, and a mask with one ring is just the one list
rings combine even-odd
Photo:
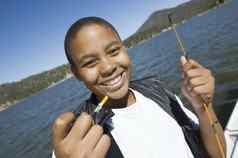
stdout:
[[97,143],[93,153],[99,155],[99,157],[105,157],[110,145],[111,138],[108,135],[104,134]]

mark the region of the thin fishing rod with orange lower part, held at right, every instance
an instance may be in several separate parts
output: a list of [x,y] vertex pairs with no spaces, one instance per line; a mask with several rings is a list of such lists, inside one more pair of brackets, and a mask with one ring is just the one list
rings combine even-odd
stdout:
[[[171,13],[168,14],[168,19],[169,19],[169,23],[171,24],[171,27],[172,27],[173,31],[175,32],[175,36],[176,36],[176,40],[177,40],[177,43],[178,43],[178,45],[179,45],[179,48],[180,48],[180,50],[181,50],[183,56],[186,58],[186,60],[187,60],[188,63],[189,63],[189,58],[188,58],[187,51],[185,50],[184,44],[183,44],[183,42],[182,42],[182,39],[180,38],[180,36],[179,36],[179,34],[178,34],[178,32],[177,32],[177,30],[176,30],[176,28],[175,28],[175,24],[173,24],[172,14],[171,14]],[[225,152],[224,152],[224,149],[223,149],[223,147],[222,147],[221,140],[220,140],[220,138],[219,138],[219,136],[218,136],[217,129],[215,128],[215,124],[217,124],[218,121],[214,121],[214,120],[212,119],[211,112],[210,112],[209,109],[208,109],[208,106],[209,106],[210,103],[209,103],[208,101],[206,101],[206,100],[205,100],[203,97],[201,97],[201,96],[198,96],[197,99],[199,100],[200,103],[202,103],[202,106],[203,106],[203,108],[204,108],[205,111],[206,111],[206,114],[207,114],[207,116],[208,116],[209,123],[210,123],[210,125],[212,126],[212,129],[213,129],[213,132],[214,132],[214,135],[215,135],[215,138],[216,138],[216,142],[217,142],[217,144],[218,144],[218,148],[219,148],[219,151],[220,151],[220,153],[221,153],[221,156],[222,156],[222,158],[225,158],[225,157],[226,157],[226,156],[225,156]]]

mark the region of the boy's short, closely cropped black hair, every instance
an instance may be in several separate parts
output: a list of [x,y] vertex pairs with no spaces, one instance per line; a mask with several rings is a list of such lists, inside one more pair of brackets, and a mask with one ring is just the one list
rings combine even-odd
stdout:
[[72,59],[71,50],[70,50],[70,43],[71,43],[72,39],[76,36],[77,32],[80,29],[82,29],[85,26],[91,25],[91,24],[98,24],[98,25],[101,25],[101,26],[109,27],[110,29],[112,29],[113,32],[116,33],[118,38],[121,40],[121,38],[119,36],[119,33],[117,32],[115,27],[103,18],[92,17],[91,16],[91,17],[84,17],[82,19],[77,20],[75,23],[73,23],[70,26],[69,30],[66,33],[65,40],[64,40],[65,54],[66,54],[66,57],[67,57],[67,59],[69,61],[69,64],[71,66],[76,67],[76,65],[75,65],[75,63]]

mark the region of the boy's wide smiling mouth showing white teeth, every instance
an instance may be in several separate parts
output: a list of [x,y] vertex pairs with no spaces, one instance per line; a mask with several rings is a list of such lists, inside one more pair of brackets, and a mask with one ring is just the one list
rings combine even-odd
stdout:
[[115,91],[122,87],[123,83],[126,79],[126,72],[123,71],[119,75],[116,75],[115,77],[112,77],[111,79],[108,79],[101,83],[103,88],[105,88],[107,91]]

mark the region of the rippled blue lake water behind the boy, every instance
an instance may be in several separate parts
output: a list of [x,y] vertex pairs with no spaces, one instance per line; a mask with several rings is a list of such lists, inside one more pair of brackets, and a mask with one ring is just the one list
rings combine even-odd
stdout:
[[[223,127],[238,99],[238,1],[232,1],[177,26],[190,58],[216,77],[214,108]],[[135,28],[136,29],[136,28]],[[161,33],[134,48],[133,78],[159,75],[179,95],[179,58],[175,34]],[[62,112],[75,109],[89,96],[75,78],[43,90],[0,112],[0,157],[50,157],[51,125]]]

